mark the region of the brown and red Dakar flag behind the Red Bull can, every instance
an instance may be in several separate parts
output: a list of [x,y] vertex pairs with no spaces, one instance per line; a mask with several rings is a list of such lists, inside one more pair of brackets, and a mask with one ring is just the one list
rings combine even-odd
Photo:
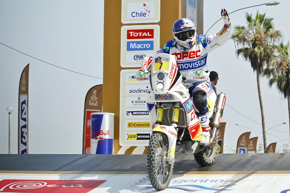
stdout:
[[103,85],[96,85],[90,88],[85,99],[84,110],[84,134],[83,134],[83,154],[90,154],[91,145],[91,119],[90,114],[102,112],[103,107]]

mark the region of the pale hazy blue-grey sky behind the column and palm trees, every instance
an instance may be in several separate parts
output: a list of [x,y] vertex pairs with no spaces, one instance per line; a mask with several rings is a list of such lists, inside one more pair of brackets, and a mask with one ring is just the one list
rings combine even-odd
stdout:
[[[220,19],[221,8],[232,12],[268,1],[213,2],[204,1],[204,32]],[[253,14],[258,9],[261,13],[266,12],[268,17],[274,18],[276,29],[282,31],[286,43],[290,39],[289,4],[289,1],[283,0],[277,6],[263,5],[240,10],[230,14],[230,19],[233,26],[246,25],[246,11]],[[208,34],[217,33],[222,25],[219,21]],[[0,26],[1,43],[53,65],[103,78],[104,1],[1,0]],[[236,57],[233,40],[209,53],[207,62],[209,70],[219,74],[218,92],[226,93],[226,104],[234,109],[225,106],[222,119],[227,122],[224,143],[235,146],[240,134],[251,131],[235,123],[254,130],[257,135],[252,132],[251,137],[258,136],[261,141],[256,75],[249,62]],[[11,153],[18,152],[18,87],[21,72],[28,63],[29,153],[81,154],[84,99],[92,86],[102,84],[102,79],[57,68],[2,44],[0,154],[8,153],[8,106],[14,108],[11,114]],[[261,87],[266,126],[270,128],[287,122],[273,128],[282,132],[267,132],[272,134],[267,135],[267,143],[289,139],[287,101],[282,100],[275,87],[269,88],[266,78],[261,79]],[[287,140],[283,142],[288,143]],[[278,142],[277,146],[283,142]]]

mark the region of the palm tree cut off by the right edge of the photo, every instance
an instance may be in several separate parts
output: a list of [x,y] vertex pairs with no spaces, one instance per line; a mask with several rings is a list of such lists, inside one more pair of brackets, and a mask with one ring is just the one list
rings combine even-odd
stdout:
[[[290,128],[290,43],[284,45],[280,43],[278,47],[278,54],[276,59],[269,68],[265,68],[263,76],[269,78],[269,86],[276,83],[278,90],[281,92],[284,99],[287,98],[288,114],[289,114],[289,128]],[[289,131],[290,133],[290,131]]]

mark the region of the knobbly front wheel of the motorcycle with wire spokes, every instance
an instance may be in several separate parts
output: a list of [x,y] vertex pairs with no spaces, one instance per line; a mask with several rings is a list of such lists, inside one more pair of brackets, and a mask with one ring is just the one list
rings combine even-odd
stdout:
[[152,186],[164,190],[171,179],[173,164],[166,161],[168,156],[168,137],[164,133],[153,132],[148,146],[148,174]]

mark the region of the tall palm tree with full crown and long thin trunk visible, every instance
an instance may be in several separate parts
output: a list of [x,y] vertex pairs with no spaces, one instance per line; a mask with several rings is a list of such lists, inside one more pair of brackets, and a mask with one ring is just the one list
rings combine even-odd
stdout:
[[238,49],[236,54],[242,55],[246,61],[250,61],[253,71],[256,72],[258,96],[260,101],[262,130],[264,139],[264,152],[267,150],[267,140],[265,132],[264,108],[262,103],[260,75],[264,67],[268,67],[276,51],[275,43],[282,37],[281,32],[275,30],[273,18],[259,14],[253,18],[252,14],[246,13],[247,26],[235,26],[231,36]]

